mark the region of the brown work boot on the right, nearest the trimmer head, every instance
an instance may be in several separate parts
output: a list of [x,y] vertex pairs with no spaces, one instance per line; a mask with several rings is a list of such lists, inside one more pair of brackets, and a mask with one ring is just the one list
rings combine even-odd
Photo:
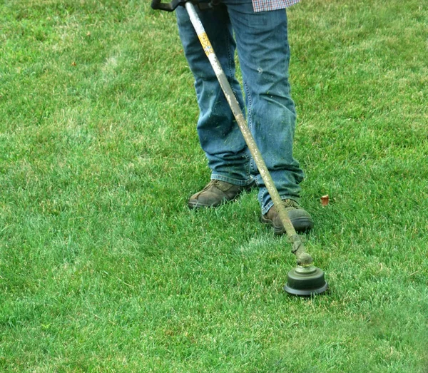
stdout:
[[[303,210],[295,200],[282,200],[285,210],[287,211],[288,218],[297,232],[305,232],[314,228],[314,221],[312,217]],[[262,223],[270,224],[273,227],[275,235],[282,235],[285,233],[285,228],[282,225],[280,215],[277,213],[275,206],[272,206],[267,214],[262,215]]]

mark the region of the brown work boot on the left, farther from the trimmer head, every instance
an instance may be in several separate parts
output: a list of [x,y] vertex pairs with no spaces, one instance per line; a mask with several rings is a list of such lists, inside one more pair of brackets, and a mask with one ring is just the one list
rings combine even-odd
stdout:
[[233,185],[220,180],[211,180],[203,190],[192,195],[189,208],[215,208],[229,200],[235,200],[244,190],[250,190],[255,181],[248,185]]

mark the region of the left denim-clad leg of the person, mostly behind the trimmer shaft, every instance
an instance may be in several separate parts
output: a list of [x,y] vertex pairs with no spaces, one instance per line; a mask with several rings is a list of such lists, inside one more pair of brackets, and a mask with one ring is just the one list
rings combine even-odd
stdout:
[[[195,76],[200,108],[198,136],[212,170],[211,179],[233,185],[248,185],[252,178],[247,145],[190,23],[187,11],[179,6],[176,14],[185,56]],[[198,14],[228,81],[244,108],[240,85],[235,78],[235,41],[228,12],[225,6],[218,6],[207,11],[198,10]]]

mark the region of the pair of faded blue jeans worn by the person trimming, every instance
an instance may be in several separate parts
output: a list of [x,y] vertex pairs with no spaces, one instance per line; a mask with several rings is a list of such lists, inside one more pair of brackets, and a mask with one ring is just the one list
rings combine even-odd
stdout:
[[[255,178],[265,214],[272,200],[251,158],[213,68],[205,56],[183,6],[176,9],[185,56],[195,77],[200,108],[198,136],[208,158],[211,178],[248,185]],[[251,0],[223,0],[220,6],[198,11],[248,126],[260,148],[282,199],[299,200],[303,171],[292,156],[295,104],[290,96],[285,10],[255,13]],[[243,75],[243,91],[235,78],[235,49]]]

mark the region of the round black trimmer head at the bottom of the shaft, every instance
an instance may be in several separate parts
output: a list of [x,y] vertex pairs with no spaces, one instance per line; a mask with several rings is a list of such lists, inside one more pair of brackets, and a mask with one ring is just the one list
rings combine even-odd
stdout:
[[284,287],[287,293],[303,297],[321,294],[327,289],[328,284],[325,281],[324,272],[313,265],[310,267],[297,265],[294,270],[290,270],[287,275],[287,284]]

